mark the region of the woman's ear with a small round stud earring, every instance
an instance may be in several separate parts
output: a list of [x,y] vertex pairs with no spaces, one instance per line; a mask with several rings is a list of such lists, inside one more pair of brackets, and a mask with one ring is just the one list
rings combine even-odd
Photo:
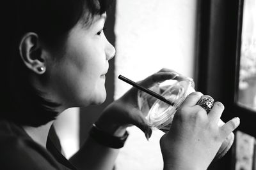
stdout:
[[45,59],[42,50],[36,33],[24,34],[19,44],[20,57],[24,64],[36,74],[45,73]]

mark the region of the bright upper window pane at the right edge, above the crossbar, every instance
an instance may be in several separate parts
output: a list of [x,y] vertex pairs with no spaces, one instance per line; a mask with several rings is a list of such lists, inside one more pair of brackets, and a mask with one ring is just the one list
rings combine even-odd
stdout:
[[256,1],[244,0],[238,103],[256,111]]

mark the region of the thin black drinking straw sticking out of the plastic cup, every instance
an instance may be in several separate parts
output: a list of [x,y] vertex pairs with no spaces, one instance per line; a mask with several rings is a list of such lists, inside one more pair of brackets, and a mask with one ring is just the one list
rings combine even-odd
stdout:
[[168,101],[167,99],[165,99],[163,96],[157,94],[156,92],[153,92],[152,90],[149,90],[145,87],[142,87],[141,85],[139,85],[138,83],[135,83],[134,81],[132,80],[129,80],[128,78],[122,76],[122,75],[119,75],[118,78],[120,80],[123,80],[125,81],[126,83],[129,83],[130,85],[132,85],[133,87],[136,87],[137,89],[140,89],[141,91],[147,93],[147,94],[150,94],[151,96],[153,97],[156,97],[157,99],[159,99],[160,101],[163,101],[164,103],[167,103],[167,104],[170,104],[172,105],[172,103],[170,101]]

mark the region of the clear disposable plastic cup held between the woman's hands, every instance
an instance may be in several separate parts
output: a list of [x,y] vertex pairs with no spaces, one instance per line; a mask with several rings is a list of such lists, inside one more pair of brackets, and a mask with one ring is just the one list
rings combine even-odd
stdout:
[[[138,106],[152,129],[160,129],[163,132],[168,132],[172,125],[173,117],[180,105],[189,94],[195,92],[195,83],[191,78],[180,76],[177,80],[157,83],[150,90],[161,94],[161,96],[170,101],[171,104],[164,103],[139,90]],[[223,121],[220,120],[219,126],[223,124]],[[233,142],[234,134],[230,134],[222,143],[215,159],[223,157],[228,152]]]

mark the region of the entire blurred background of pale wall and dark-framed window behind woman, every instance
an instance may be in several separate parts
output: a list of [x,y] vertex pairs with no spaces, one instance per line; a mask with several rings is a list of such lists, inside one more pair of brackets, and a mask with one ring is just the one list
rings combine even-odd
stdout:
[[[196,90],[223,102],[223,120],[241,118],[232,149],[209,169],[256,169],[255,0],[116,0],[106,27],[116,48],[109,62],[106,102],[71,108],[54,123],[67,158],[88,137],[97,120],[93,113],[131,88],[118,80],[119,74],[138,81],[167,67],[193,78]],[[138,128],[128,131],[116,169],[163,169],[159,148],[163,132],[154,131],[147,141]]]

